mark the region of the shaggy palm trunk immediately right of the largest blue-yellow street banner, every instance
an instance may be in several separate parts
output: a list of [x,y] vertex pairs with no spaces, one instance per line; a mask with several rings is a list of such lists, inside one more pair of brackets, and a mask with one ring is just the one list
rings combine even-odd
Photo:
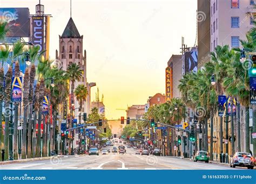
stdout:
[[29,110],[29,68],[26,68],[23,82],[23,132],[22,132],[22,159],[26,158],[26,124],[28,123],[28,110]]

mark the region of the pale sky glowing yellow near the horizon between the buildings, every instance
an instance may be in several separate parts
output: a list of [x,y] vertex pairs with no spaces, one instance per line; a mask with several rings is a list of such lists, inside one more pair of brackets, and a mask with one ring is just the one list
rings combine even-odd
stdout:
[[[0,7],[28,7],[38,0],[0,0]],[[41,0],[51,14],[50,57],[70,18],[70,0]],[[165,93],[165,68],[179,54],[181,36],[196,40],[196,0],[72,0],[72,18],[87,52],[87,81],[104,94],[108,119],[126,116],[127,105]],[[92,88],[92,100],[97,87]]]

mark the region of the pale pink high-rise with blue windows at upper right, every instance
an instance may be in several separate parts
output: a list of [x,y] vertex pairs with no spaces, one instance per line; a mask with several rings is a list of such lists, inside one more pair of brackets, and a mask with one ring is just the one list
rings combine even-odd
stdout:
[[211,0],[211,51],[217,45],[241,47],[246,32],[253,27],[254,1]]

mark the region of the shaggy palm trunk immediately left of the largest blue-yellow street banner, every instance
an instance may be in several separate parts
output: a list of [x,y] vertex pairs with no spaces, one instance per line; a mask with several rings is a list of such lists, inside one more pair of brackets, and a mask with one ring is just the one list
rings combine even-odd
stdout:
[[9,150],[8,150],[8,139],[9,139],[9,121],[11,116],[11,109],[10,109],[10,101],[11,101],[11,78],[12,78],[12,69],[9,67],[8,72],[5,75],[5,89],[4,89],[4,101],[5,101],[5,125],[4,125],[4,160],[7,160],[9,157]]

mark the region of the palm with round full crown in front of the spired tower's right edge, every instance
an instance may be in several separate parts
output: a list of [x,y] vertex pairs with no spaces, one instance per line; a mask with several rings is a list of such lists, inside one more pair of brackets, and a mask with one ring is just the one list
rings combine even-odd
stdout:
[[[71,65],[68,66],[66,70],[66,74],[71,81],[71,101],[72,101],[74,100],[73,95],[74,95],[74,89],[75,89],[75,82],[80,80],[81,77],[83,76],[83,69],[80,68],[80,66],[77,65],[76,63],[72,63]],[[70,112],[73,112],[72,105],[70,106]],[[71,128],[71,125],[72,125],[71,121],[72,119],[69,120],[69,128]],[[71,139],[69,139],[69,154],[71,154]]]

